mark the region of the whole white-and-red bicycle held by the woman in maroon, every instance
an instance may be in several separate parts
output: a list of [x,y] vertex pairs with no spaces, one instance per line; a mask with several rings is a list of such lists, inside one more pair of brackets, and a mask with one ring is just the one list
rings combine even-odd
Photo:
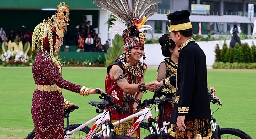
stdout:
[[[99,90],[96,90],[98,94],[101,94]],[[101,139],[134,139],[130,136],[125,135],[115,135],[113,133],[113,125],[110,121],[110,112],[109,109],[107,109],[108,106],[110,106],[113,109],[117,109],[117,111],[121,111],[121,106],[115,104],[112,101],[112,97],[108,94],[102,93],[100,96],[101,99],[104,99],[106,101],[102,102],[105,104],[105,108],[103,110],[103,113],[97,115],[95,118],[85,122],[85,124],[71,124],[69,125],[69,114],[72,110],[78,109],[78,106],[72,106],[68,109],[64,109],[64,117],[67,118],[67,127],[64,128],[64,139],[98,139],[97,136],[95,136],[95,133],[97,129],[102,125],[101,130]],[[110,109],[111,109],[110,108]],[[95,122],[96,121],[96,122]],[[92,128],[88,127],[89,124],[92,124],[95,122],[95,124],[92,126]],[[104,131],[104,132],[103,132]],[[26,139],[34,139],[35,138],[35,132],[34,130],[28,134]]]

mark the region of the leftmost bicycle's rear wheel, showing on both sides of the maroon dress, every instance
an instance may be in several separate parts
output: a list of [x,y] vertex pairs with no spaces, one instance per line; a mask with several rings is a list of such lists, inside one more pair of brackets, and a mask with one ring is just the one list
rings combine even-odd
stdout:
[[[82,124],[71,124],[69,126],[69,130],[72,131],[74,130],[75,128],[79,127],[80,125]],[[91,128],[89,128],[88,126],[80,129],[78,132],[76,132],[75,134],[72,134],[70,135],[70,139],[76,139],[75,137],[76,136],[80,136],[80,137],[85,137],[89,131],[91,130]],[[66,128],[64,128],[64,132],[66,131]],[[85,134],[81,134],[80,135],[80,132],[83,132]],[[77,135],[78,134],[78,135]],[[65,132],[65,135],[66,135],[66,132]],[[32,130],[28,135],[27,135],[27,138],[26,139],[35,139],[36,135],[35,135],[35,130]],[[81,139],[81,138],[78,138],[78,139]]]

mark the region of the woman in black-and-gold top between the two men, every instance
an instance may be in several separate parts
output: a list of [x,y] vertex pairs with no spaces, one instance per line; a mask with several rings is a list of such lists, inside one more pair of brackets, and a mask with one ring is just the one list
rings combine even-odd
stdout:
[[[176,74],[179,58],[178,47],[169,37],[169,34],[164,34],[158,40],[159,44],[161,45],[162,55],[166,58],[158,66],[156,75],[156,81],[163,81],[163,84],[165,85],[165,91],[169,91],[165,98],[173,99],[173,101],[164,104],[165,120],[167,123],[170,122],[176,96]],[[163,126],[161,110],[158,112],[157,122],[159,127]],[[167,127],[167,129],[169,129],[169,127]]]

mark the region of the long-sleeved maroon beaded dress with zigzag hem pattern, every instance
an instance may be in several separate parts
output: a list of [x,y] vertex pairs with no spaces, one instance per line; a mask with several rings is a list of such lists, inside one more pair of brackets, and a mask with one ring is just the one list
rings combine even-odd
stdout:
[[79,93],[82,86],[70,83],[61,77],[61,67],[53,64],[48,50],[39,50],[33,65],[36,85],[53,86],[45,91],[36,88],[33,94],[31,113],[36,139],[64,139],[64,97],[61,89]]

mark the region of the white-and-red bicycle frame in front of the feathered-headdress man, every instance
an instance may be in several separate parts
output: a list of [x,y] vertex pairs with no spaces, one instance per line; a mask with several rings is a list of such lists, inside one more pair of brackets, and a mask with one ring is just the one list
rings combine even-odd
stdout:
[[[143,116],[143,115],[144,115],[144,116]],[[129,120],[129,119],[133,119],[133,118],[135,118],[135,117],[139,117],[139,119],[137,119],[137,120],[135,121],[135,123],[133,124],[133,126],[131,127],[131,129],[130,129],[130,130],[128,131],[128,133],[126,134],[127,136],[132,136],[133,133],[136,131],[136,129],[138,129],[139,124],[141,124],[141,122],[143,122],[143,121],[146,120],[146,119],[148,119],[150,123],[152,123],[152,122],[155,123],[156,132],[157,132],[157,134],[160,134],[158,124],[157,124],[157,122],[156,122],[156,119],[153,119],[153,118],[152,118],[152,113],[151,113],[151,109],[150,109],[149,106],[145,107],[144,110],[141,110],[141,111],[139,111],[139,112],[137,112],[137,113],[135,113],[135,114],[132,114],[132,115],[130,115],[130,116],[124,118],[124,119],[120,119],[119,121],[116,121],[116,122],[112,123],[112,125],[115,126],[115,125],[117,125],[117,124],[119,124],[119,123],[123,123],[124,121]],[[152,126],[149,126],[149,128],[150,128],[150,133],[151,133],[151,134],[154,134],[154,131],[153,131]],[[96,133],[96,135],[100,135],[101,132],[102,132],[102,131]]]

